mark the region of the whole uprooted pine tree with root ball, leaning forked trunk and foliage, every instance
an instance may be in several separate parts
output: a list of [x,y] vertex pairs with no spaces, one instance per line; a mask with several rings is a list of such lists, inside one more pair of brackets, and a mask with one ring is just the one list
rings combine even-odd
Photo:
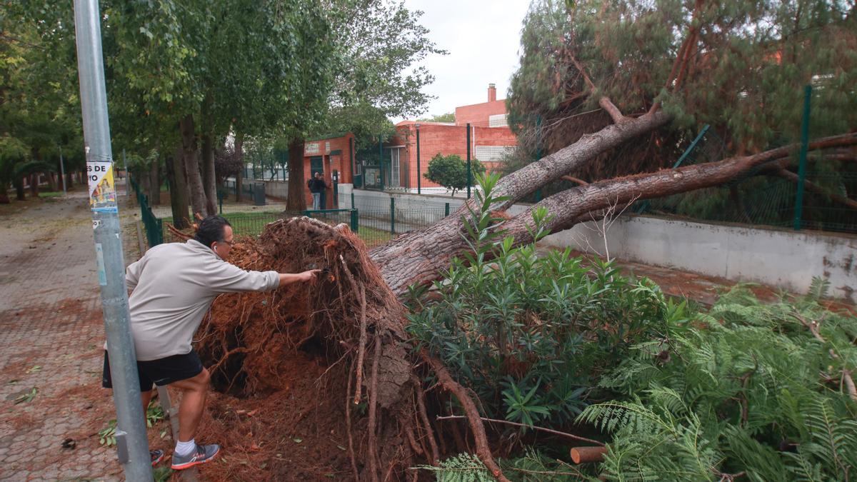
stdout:
[[[468,451],[478,455],[488,473],[503,479],[493,453],[499,447],[498,431],[491,426],[487,431],[481,419],[485,401],[461,383],[444,359],[414,340],[400,299],[441,277],[456,256],[469,256],[471,266],[474,256],[483,255],[479,262],[497,256],[498,246],[476,254],[485,241],[479,233],[503,232],[500,238],[511,236],[507,249],[512,249],[537,238],[536,224],[542,232],[556,232],[638,199],[780,172],[799,144],[775,139],[772,132],[782,131],[778,123],[783,119],[800,117],[792,105],[769,108],[769,99],[779,95],[788,104],[786,93],[800,93],[813,75],[850,73],[855,66],[853,56],[842,53],[854,50],[854,29],[849,28],[854,17],[835,5],[801,9],[788,3],[781,9],[771,4],[744,11],[734,3],[697,1],[674,12],[662,6],[584,2],[566,3],[565,8],[551,14],[556,30],[536,35],[543,44],[526,45],[524,31],[529,53],[521,75],[530,69],[530,76],[519,83],[524,96],[517,97],[526,99],[526,86],[536,86],[535,100],[524,110],[536,111],[536,100],[560,105],[551,113],[576,119],[586,118],[580,117],[585,109],[596,109],[603,124],[572,129],[566,147],[552,149],[504,178],[488,179],[488,200],[470,200],[434,226],[374,250],[367,251],[345,226],[305,218],[277,221],[258,241],[238,246],[234,261],[242,268],[296,272],[317,266],[327,271],[309,290],[294,286],[269,295],[223,296],[213,305],[210,322],[201,327],[200,351],[214,367],[219,390],[227,394],[214,401],[206,430],[222,436],[227,449],[243,450],[251,460],[267,464],[264,469],[259,464],[239,467],[243,472],[226,478],[254,479],[252,471],[262,470],[273,477],[318,477],[327,474],[320,472],[323,460],[339,467],[331,473],[336,478],[417,479],[412,467],[434,466],[445,455]],[[755,27],[771,18],[776,25],[794,23],[794,35],[762,34]],[[653,28],[667,32],[650,44],[623,43],[624,33],[610,30],[614,26],[638,34],[638,39],[648,38]],[[743,55],[734,54],[735,45],[744,47]],[[830,46],[830,55],[814,55],[820,45]],[[800,52],[809,52],[800,53],[806,71],[780,69],[775,60],[783,52],[794,57],[791,64],[797,64]],[[833,58],[838,60],[831,63]],[[537,99],[542,91],[549,93],[549,101]],[[825,99],[837,99],[835,85],[822,93]],[[718,97],[727,95],[726,101]],[[848,109],[852,100],[839,102],[844,117],[853,115]],[[565,108],[571,110],[561,111]],[[593,181],[547,196],[518,216],[507,214],[513,203],[596,162],[619,165],[620,154],[633,152],[636,166],[650,153],[674,151],[680,136],[664,136],[664,130],[686,129],[697,111],[704,118],[703,113],[714,115],[712,110],[718,127],[730,130],[725,159]],[[849,132],[853,125],[844,121],[832,132]],[[820,138],[808,149],[836,149],[838,155],[854,145],[857,134],[850,132]],[[845,194],[840,202],[848,206]],[[439,395],[439,389],[446,393]],[[443,407],[446,413],[441,413]],[[450,425],[439,430],[431,415],[449,415],[448,407],[457,407],[456,416],[463,415],[466,425],[446,421]],[[297,431],[302,431],[299,437]],[[311,441],[307,433],[314,434]],[[307,449],[309,442],[313,447]],[[304,472],[278,472],[284,467],[304,467]]]

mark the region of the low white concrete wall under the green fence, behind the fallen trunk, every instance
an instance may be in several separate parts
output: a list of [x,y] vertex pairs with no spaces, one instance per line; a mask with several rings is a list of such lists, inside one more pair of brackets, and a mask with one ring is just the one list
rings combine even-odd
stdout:
[[[854,236],[627,216],[615,221],[607,239],[610,256],[622,260],[801,293],[818,276],[830,281],[831,296],[857,301]],[[592,223],[552,234],[544,243],[604,255]]]

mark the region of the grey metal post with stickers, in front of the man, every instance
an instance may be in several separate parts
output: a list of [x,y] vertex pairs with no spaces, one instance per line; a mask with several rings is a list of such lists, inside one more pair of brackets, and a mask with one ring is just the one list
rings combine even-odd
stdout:
[[119,461],[123,463],[125,479],[152,480],[152,461],[149,458],[137,378],[134,340],[129,329],[128,288],[125,285],[122,236],[113,177],[97,0],[75,0],[75,37],[81,81],[87,184],[93,212],[95,261],[101,287],[105,334],[111,355]]

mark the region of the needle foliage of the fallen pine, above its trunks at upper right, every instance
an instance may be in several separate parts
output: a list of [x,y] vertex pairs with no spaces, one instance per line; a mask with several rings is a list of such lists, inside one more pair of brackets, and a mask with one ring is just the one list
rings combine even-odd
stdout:
[[[590,183],[672,167],[705,124],[709,136],[722,140],[707,160],[798,142],[807,85],[813,87],[810,136],[849,132],[857,125],[855,22],[854,2],[842,0],[535,0],[508,93],[518,148],[506,169],[613,124],[601,108],[604,97],[627,116],[654,108],[671,121],[568,173]],[[813,184],[854,199],[853,154],[811,155],[810,163]],[[795,174],[797,165],[795,156],[783,167]],[[774,226],[793,220],[795,183],[788,174],[769,166],[741,180],[651,208],[700,220]],[[575,186],[556,181],[541,195]],[[850,231],[857,218],[829,194],[806,196],[806,226]]]

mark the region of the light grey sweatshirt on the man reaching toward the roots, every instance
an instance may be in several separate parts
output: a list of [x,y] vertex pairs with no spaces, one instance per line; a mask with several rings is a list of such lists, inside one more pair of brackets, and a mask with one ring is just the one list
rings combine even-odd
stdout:
[[131,334],[140,361],[190,352],[196,328],[225,292],[270,291],[276,271],[244,271],[194,239],[159,244],[125,270]]

